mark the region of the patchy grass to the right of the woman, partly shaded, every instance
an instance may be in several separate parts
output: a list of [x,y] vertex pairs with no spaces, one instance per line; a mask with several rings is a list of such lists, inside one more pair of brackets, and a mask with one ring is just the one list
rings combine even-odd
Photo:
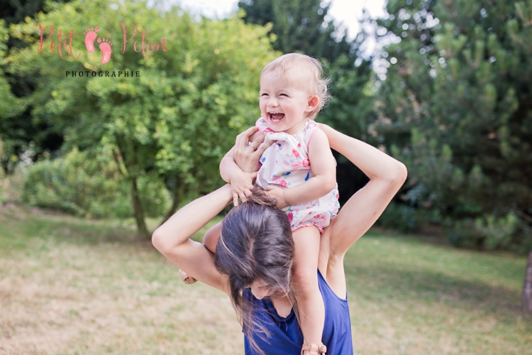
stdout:
[[356,354],[532,354],[525,258],[365,236],[345,261]]

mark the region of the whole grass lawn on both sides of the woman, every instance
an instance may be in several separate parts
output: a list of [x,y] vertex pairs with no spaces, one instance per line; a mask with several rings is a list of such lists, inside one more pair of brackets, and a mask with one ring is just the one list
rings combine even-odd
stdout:
[[[355,354],[532,354],[526,259],[370,231],[345,261]],[[131,224],[0,206],[0,354],[242,354],[228,298]]]

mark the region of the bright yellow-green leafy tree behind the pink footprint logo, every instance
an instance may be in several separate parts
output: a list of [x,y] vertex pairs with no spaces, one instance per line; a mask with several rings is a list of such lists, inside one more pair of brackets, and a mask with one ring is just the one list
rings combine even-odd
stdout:
[[145,1],[50,6],[13,27],[29,47],[13,51],[9,70],[37,74],[31,114],[67,136],[65,149],[113,147],[138,229],[148,234],[138,177],[155,172],[167,183],[169,214],[187,193],[219,184],[221,156],[258,112],[256,83],[273,55],[266,31],[239,18],[194,22]]

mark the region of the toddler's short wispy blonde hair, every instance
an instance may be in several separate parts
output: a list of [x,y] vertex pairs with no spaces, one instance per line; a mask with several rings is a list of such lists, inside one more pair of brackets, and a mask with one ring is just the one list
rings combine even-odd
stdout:
[[[292,70],[295,72],[292,72]],[[331,80],[323,75],[321,62],[316,58],[299,53],[281,55],[264,67],[260,77],[270,72],[275,72],[278,75],[297,74],[306,79],[304,89],[311,96],[317,95],[320,100],[316,109],[309,112],[309,119],[315,119],[321,108],[331,99],[331,94],[329,94],[327,89],[327,85]]]

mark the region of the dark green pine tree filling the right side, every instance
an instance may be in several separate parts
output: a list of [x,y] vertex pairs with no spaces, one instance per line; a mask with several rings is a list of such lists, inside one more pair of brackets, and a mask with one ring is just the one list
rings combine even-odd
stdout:
[[[455,244],[532,249],[532,1],[390,0],[380,129]],[[434,212],[434,213],[433,213]]]

